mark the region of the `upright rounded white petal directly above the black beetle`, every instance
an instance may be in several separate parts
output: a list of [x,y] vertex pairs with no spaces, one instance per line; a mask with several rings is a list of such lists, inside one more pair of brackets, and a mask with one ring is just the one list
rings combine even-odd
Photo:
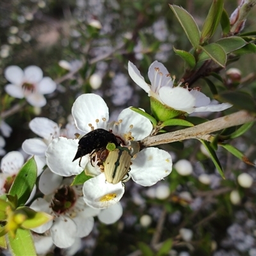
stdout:
[[92,124],[95,129],[106,129],[109,119],[106,102],[102,97],[93,93],[82,94],[76,99],[72,106],[72,115],[77,128],[83,132],[91,131],[89,124]]

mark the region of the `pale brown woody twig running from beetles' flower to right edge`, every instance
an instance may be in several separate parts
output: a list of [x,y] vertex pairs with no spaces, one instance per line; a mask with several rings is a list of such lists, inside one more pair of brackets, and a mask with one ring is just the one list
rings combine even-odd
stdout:
[[151,147],[175,141],[198,139],[211,141],[211,133],[222,129],[255,121],[255,115],[241,110],[231,115],[216,118],[204,124],[189,127],[179,131],[168,132],[156,136],[150,136],[140,141],[141,147]]

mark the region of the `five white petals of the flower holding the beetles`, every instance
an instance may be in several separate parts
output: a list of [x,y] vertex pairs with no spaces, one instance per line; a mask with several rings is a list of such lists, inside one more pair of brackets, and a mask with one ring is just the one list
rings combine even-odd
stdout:
[[[146,138],[152,131],[152,124],[142,115],[131,109],[124,109],[118,116],[118,122],[108,124],[108,106],[104,100],[93,93],[79,96],[72,107],[77,128],[82,132],[92,129],[111,130],[124,146],[131,145],[131,140],[138,141]],[[46,150],[47,165],[52,172],[63,175],[78,175],[83,172],[89,162],[88,155],[72,162],[76,156],[79,140],[56,138]],[[132,179],[142,186],[152,186],[172,172],[172,157],[168,152],[158,148],[145,148],[131,159]],[[86,171],[93,171],[92,179],[84,183],[83,193],[86,204],[95,208],[107,208],[116,204],[124,194],[122,182],[111,184],[106,182],[104,173],[99,166],[92,167],[90,163]]]

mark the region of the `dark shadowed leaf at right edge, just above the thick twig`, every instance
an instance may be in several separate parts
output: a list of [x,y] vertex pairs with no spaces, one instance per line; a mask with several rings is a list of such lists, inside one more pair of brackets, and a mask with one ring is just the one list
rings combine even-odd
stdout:
[[221,92],[216,95],[214,99],[219,100],[221,102],[229,102],[233,104],[238,109],[245,109],[250,112],[255,113],[255,102],[251,95],[245,92]]

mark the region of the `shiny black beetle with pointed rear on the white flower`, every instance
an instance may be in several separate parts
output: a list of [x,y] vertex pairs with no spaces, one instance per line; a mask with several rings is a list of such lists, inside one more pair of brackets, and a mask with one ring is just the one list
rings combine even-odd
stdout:
[[[106,148],[108,143],[114,143],[116,147],[119,146],[119,143],[116,140],[116,136],[112,132],[100,128],[88,132],[88,134],[85,134],[79,140],[76,156],[74,157],[72,162],[87,154],[93,154],[94,152]],[[80,162],[81,159],[79,161],[79,166]]]

